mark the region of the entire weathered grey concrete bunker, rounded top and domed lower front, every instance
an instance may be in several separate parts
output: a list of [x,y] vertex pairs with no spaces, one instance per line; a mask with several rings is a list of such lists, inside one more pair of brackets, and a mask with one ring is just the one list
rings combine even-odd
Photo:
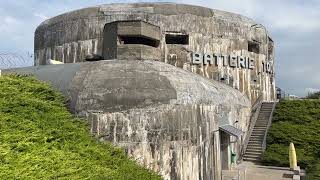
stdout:
[[[35,65],[49,58],[74,64],[26,71],[70,96],[70,109],[88,117],[98,138],[165,179],[220,179],[247,137],[250,101],[275,99],[267,30],[205,7],[110,4],[65,13],[36,30]],[[102,61],[78,63],[85,59]]]

